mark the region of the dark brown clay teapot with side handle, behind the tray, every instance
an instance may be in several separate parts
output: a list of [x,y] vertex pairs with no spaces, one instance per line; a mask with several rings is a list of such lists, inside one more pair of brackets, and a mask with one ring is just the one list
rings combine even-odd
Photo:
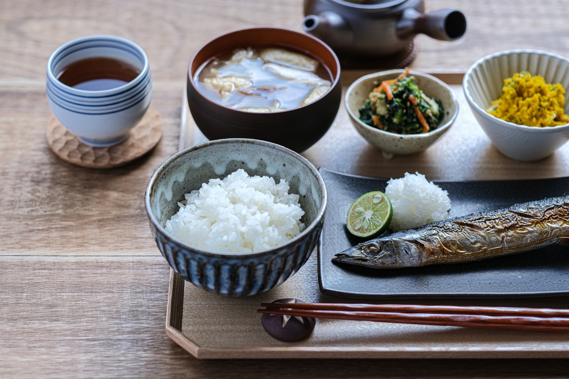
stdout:
[[424,14],[423,0],[304,0],[304,14],[303,30],[338,55],[368,58],[395,55],[419,33],[454,41],[466,30],[459,10]]

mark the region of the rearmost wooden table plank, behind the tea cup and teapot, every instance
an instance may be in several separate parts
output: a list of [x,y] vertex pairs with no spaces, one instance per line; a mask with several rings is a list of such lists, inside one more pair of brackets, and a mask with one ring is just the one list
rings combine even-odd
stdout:
[[[465,70],[489,53],[512,48],[568,55],[563,0],[427,0],[426,7],[460,9],[467,32],[452,43],[420,35],[413,68]],[[250,26],[301,31],[302,19],[302,0],[3,1],[0,78],[42,79],[48,57],[60,44],[88,34],[114,34],[145,49],[155,80],[180,80],[205,41]]]

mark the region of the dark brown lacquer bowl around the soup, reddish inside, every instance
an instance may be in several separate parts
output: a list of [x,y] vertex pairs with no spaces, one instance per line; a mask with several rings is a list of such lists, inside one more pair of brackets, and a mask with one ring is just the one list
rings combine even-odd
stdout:
[[[240,47],[282,47],[304,53],[328,67],[332,85],[314,102],[290,110],[254,113],[220,105],[201,93],[193,78],[212,57]],[[292,30],[248,28],[229,32],[204,44],[189,62],[189,110],[201,132],[210,140],[251,138],[304,151],[332,125],[340,107],[341,93],[340,63],[336,54],[321,40]]]

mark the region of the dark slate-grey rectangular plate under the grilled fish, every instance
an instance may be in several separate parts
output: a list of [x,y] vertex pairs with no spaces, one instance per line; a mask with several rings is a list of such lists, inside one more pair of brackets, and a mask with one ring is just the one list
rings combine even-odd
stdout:
[[[535,297],[569,294],[569,247],[552,245],[483,261],[403,269],[332,263],[332,257],[364,241],[346,228],[352,202],[385,191],[386,179],[319,169],[328,210],[318,244],[318,280],[324,293],[352,298]],[[540,180],[434,181],[451,198],[450,217],[508,207],[569,193],[569,177]]]

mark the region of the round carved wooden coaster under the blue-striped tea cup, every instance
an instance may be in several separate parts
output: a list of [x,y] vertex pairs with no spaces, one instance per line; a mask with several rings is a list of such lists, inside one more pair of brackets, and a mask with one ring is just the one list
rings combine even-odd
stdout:
[[89,168],[112,168],[125,165],[156,146],[162,132],[162,116],[150,107],[124,142],[111,147],[85,145],[52,116],[47,124],[47,142],[64,161]]

